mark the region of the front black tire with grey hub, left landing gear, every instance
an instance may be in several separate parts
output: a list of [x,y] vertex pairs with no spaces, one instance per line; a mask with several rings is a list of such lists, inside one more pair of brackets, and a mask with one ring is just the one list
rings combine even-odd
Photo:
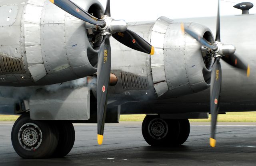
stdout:
[[25,113],[14,123],[11,138],[20,157],[49,158],[57,147],[58,131],[48,121],[31,120]]

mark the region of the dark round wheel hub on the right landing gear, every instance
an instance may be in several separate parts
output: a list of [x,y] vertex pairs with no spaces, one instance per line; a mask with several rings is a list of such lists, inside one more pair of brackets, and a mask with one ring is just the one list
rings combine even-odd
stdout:
[[153,119],[148,125],[148,133],[154,139],[163,139],[168,133],[168,124],[160,118]]

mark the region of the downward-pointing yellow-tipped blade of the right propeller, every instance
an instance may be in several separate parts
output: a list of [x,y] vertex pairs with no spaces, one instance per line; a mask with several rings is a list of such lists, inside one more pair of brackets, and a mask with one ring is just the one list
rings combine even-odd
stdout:
[[210,87],[210,111],[212,116],[212,132],[210,137],[210,146],[215,147],[215,130],[217,124],[219,98],[221,87],[221,65],[220,57],[217,57],[212,66],[211,87]]

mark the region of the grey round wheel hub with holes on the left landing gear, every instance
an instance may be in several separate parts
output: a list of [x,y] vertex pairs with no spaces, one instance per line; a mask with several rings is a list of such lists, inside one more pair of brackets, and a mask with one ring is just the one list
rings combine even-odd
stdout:
[[24,124],[18,133],[20,146],[26,150],[36,150],[42,143],[42,132],[34,123]]

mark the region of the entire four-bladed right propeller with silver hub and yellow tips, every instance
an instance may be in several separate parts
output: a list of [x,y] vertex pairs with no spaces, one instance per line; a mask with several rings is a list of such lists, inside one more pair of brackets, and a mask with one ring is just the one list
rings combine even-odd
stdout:
[[207,47],[208,51],[214,57],[214,63],[212,65],[211,72],[211,85],[210,85],[210,113],[212,115],[211,120],[211,136],[210,136],[210,146],[215,147],[215,131],[217,124],[217,116],[219,111],[219,99],[220,99],[220,90],[221,90],[221,65],[220,59],[224,60],[226,63],[241,69],[246,73],[247,77],[250,76],[250,67],[248,64],[244,63],[238,55],[235,54],[236,48],[234,45],[226,45],[220,41],[220,0],[218,0],[218,14],[217,14],[217,23],[216,23],[216,38],[214,43],[206,41],[204,38],[186,28],[184,24],[181,24],[182,32],[186,32],[192,38],[199,41],[202,45]]

